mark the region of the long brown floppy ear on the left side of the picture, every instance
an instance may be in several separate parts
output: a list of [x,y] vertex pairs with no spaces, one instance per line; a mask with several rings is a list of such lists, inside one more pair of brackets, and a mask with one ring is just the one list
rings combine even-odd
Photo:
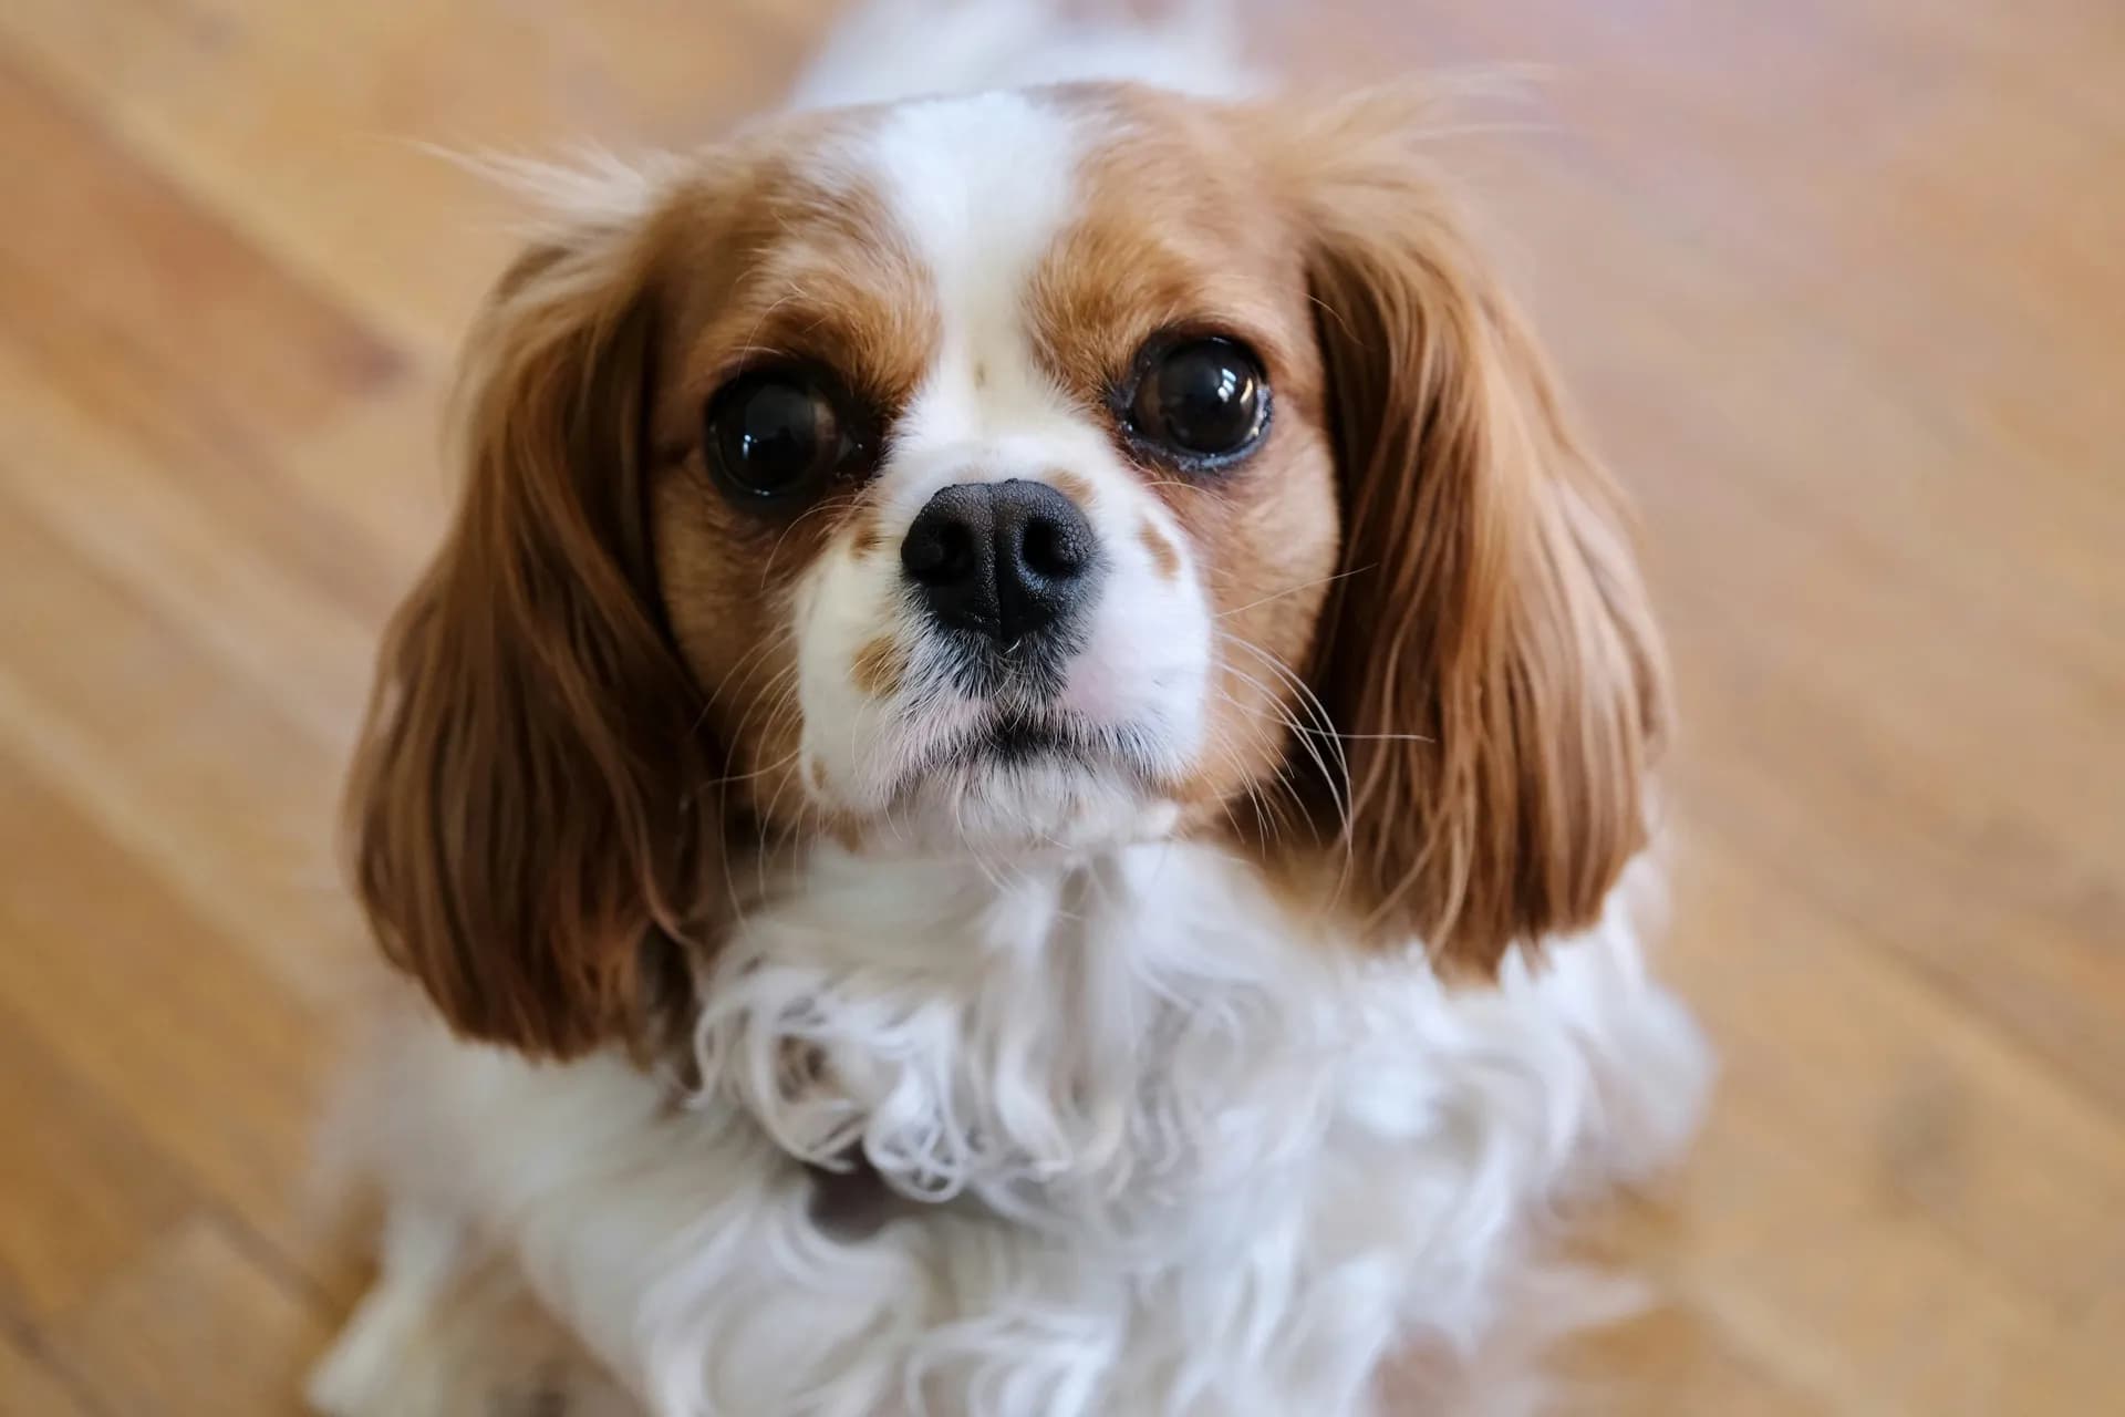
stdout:
[[463,501],[389,627],[348,790],[385,954],[461,1032],[546,1056],[631,1028],[644,941],[716,848],[654,591],[648,223],[542,240],[474,325]]

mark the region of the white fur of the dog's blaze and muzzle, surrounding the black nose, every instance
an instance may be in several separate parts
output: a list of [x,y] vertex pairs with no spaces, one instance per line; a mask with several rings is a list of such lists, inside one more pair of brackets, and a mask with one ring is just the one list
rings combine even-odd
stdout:
[[[884,206],[890,240],[920,266],[937,317],[871,489],[880,540],[897,546],[946,484],[1067,474],[1101,569],[1056,705],[1126,735],[1137,767],[1177,780],[1203,744],[1209,601],[1182,527],[1122,459],[1105,412],[1084,404],[1086,391],[1069,397],[1043,368],[1031,310],[1035,280],[1080,217],[1086,151],[1107,132],[1105,119],[1037,93],[922,100],[882,113],[835,149],[827,178]],[[1179,574],[1154,563],[1145,525],[1177,548]],[[795,612],[808,786],[831,805],[888,807],[895,792],[922,786],[920,773],[941,771],[924,767],[939,746],[990,720],[992,705],[952,680],[897,554],[844,546],[822,557]],[[852,673],[882,637],[910,665],[890,693],[867,690]],[[1164,812],[1135,778],[1065,765],[1018,769],[965,792],[937,799],[954,839],[984,831],[982,822],[1077,839],[1116,822],[1135,831],[1145,812]],[[897,818],[899,829],[918,824]]]

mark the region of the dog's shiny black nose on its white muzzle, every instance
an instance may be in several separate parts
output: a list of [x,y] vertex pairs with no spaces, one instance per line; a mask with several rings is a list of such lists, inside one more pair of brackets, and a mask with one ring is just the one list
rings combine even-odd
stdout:
[[960,482],[907,527],[901,567],[939,625],[1014,646],[1084,597],[1096,550],[1092,523],[1046,482]]

